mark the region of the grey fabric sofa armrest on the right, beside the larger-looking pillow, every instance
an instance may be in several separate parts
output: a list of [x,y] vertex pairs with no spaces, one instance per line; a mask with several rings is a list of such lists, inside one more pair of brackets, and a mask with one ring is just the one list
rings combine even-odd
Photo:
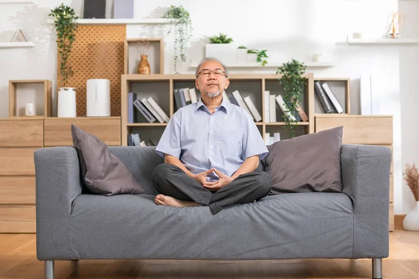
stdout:
[[353,202],[353,257],[388,257],[391,151],[342,144],[343,190]]

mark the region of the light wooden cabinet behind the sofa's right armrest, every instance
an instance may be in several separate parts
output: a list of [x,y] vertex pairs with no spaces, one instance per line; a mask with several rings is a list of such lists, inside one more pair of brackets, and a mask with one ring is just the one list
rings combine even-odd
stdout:
[[[348,115],[348,114],[318,114],[315,116],[316,132],[344,126],[342,143],[344,144],[374,144],[387,146],[393,154],[392,116],[387,115]],[[394,230],[394,181],[393,161],[390,167],[390,209],[389,229]]]

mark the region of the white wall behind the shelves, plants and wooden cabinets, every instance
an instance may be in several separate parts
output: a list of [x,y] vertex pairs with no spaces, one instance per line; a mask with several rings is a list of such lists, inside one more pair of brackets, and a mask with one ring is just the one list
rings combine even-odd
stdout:
[[[38,0],[36,5],[0,4],[1,30],[22,28],[36,42],[31,49],[0,50],[0,117],[8,116],[8,80],[49,79],[53,81],[53,96],[57,75],[57,47],[54,30],[47,24],[50,8],[64,2],[82,12],[82,0]],[[409,2],[409,3],[407,3]],[[288,61],[291,58],[308,61],[314,52],[323,52],[326,59],[335,61],[332,68],[308,68],[315,77],[351,78],[351,110],[360,113],[359,77],[373,75],[374,94],[379,102],[377,114],[394,116],[395,213],[409,211],[412,199],[402,182],[402,163],[417,160],[418,148],[413,142],[418,132],[415,127],[416,45],[348,46],[346,35],[363,31],[364,36],[381,36],[390,10],[397,9],[397,0],[261,0],[261,1],[189,1],[189,0],[135,0],[135,17],[159,17],[170,5],[183,5],[191,13],[193,37],[189,45],[189,61],[179,63],[179,73],[193,73],[191,61],[199,61],[205,54],[209,36],[220,32],[233,37],[235,44],[268,50],[268,61]],[[402,5],[409,19],[417,18],[418,2]],[[413,12],[416,8],[416,12]],[[412,22],[412,24],[416,22]],[[172,73],[172,36],[166,36],[167,26],[129,26],[128,37],[163,37],[165,40],[165,70]],[[413,27],[411,27],[413,28]],[[416,27],[417,28],[417,27]],[[418,30],[413,30],[418,35]],[[276,68],[230,69],[231,73],[274,73]],[[401,95],[400,92],[403,91]],[[403,110],[401,110],[403,107]],[[55,107],[53,110],[55,115]],[[403,125],[402,121],[403,119]],[[411,123],[406,123],[411,121]],[[413,133],[407,135],[407,132]],[[403,140],[402,140],[403,139]],[[402,143],[404,148],[402,149]],[[405,146],[406,144],[406,146]],[[412,152],[414,151],[414,152]],[[410,156],[410,157],[409,157]],[[402,160],[403,158],[403,160]]]

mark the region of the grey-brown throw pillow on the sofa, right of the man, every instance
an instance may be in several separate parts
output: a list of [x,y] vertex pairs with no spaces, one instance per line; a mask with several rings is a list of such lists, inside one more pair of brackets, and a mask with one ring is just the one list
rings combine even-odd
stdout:
[[342,132],[343,126],[267,146],[262,163],[272,177],[270,195],[341,192]]

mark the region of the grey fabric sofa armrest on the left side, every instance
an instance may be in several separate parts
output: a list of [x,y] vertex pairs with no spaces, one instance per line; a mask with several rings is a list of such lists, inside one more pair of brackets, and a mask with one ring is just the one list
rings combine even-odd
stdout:
[[68,219],[82,194],[74,147],[50,147],[34,153],[36,175],[36,254],[38,259],[68,259]]

